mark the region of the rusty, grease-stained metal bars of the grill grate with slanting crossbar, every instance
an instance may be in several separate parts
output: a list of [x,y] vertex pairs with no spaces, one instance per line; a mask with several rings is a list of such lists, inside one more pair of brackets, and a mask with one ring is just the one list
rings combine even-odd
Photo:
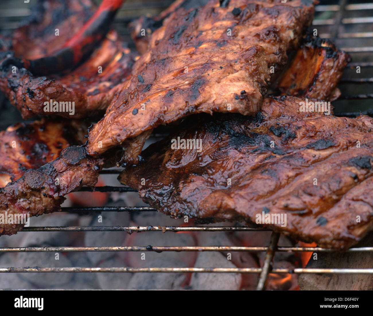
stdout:
[[[366,24],[373,22],[373,3],[361,3],[361,4],[348,4],[348,0],[340,0],[339,4],[336,5],[318,5],[316,6],[317,12],[335,12],[334,18],[331,19],[315,19],[313,25],[327,26],[333,25],[330,33],[321,33],[320,37],[330,38],[332,40],[341,38],[371,38],[373,32],[341,32],[339,33],[339,27],[341,25],[356,25]],[[147,3],[147,8],[151,9],[164,9],[172,1],[155,1]],[[144,9],[144,5],[141,3],[125,3],[120,10],[118,17],[115,20],[116,28],[122,33],[123,36],[128,36],[129,32],[125,25],[131,21],[126,15],[128,10],[140,10]],[[372,10],[372,16],[368,17],[344,17],[344,13],[357,11],[357,10]],[[0,12],[0,16],[5,22],[0,22],[1,29],[12,30],[18,27],[18,21],[20,18],[29,15],[28,9],[6,9]],[[6,20],[8,19],[8,21]],[[359,47],[339,47],[350,53],[364,53],[373,52],[373,46],[359,46]],[[354,69],[356,66],[360,67],[373,67],[373,61],[363,62],[351,62],[347,68]],[[361,79],[342,79],[341,83],[350,85],[361,85],[373,83],[373,78],[361,78]],[[373,99],[373,93],[360,93],[356,95],[345,95],[340,97],[341,100],[351,99]],[[339,116],[357,116],[360,113],[366,115],[373,115],[373,109],[368,109],[361,112],[339,112]],[[156,135],[162,136],[162,135]],[[101,174],[114,174],[120,173],[119,169],[109,169],[101,171]],[[91,188],[82,188],[81,191],[91,192],[136,192],[126,186],[101,186]],[[153,212],[157,211],[151,207],[62,207],[63,212],[82,212],[82,213],[101,213],[101,212]],[[244,226],[53,226],[53,227],[24,227],[22,232],[93,232],[93,231],[123,231],[127,233],[134,232],[232,232],[232,231],[270,231],[269,229],[258,229]],[[276,252],[313,252],[313,253],[329,253],[335,252],[332,249],[320,248],[320,247],[279,247],[278,240],[279,234],[272,232],[270,243],[264,247],[225,247],[225,246],[195,246],[195,247],[181,247],[181,246],[132,246],[132,247],[8,247],[0,248],[1,253],[18,253],[18,252],[120,252],[120,251],[250,251],[250,252],[266,252],[263,266],[260,268],[199,268],[199,267],[3,267],[0,268],[0,273],[62,273],[62,272],[181,272],[181,273],[259,273],[260,278],[257,284],[257,290],[265,289],[267,277],[270,273],[330,273],[330,274],[373,274],[372,269],[308,269],[308,268],[272,268],[272,259]],[[373,247],[360,247],[350,248],[346,252],[373,252]]]

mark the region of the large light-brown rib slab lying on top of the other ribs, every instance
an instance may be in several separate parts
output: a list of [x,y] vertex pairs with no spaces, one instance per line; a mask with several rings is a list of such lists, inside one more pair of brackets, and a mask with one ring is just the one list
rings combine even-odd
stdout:
[[279,71],[297,47],[313,2],[223,2],[180,7],[151,34],[131,80],[91,129],[90,155],[187,115],[259,111],[271,67]]

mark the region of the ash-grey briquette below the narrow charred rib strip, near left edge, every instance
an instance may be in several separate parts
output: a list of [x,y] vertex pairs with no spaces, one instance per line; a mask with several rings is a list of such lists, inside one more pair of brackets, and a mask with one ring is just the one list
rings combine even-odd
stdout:
[[[54,213],[30,217],[29,221],[30,226],[75,226],[78,225],[78,215]],[[23,239],[17,247],[39,246],[41,244],[67,246],[74,241],[78,232],[23,232],[20,235],[23,236]]]

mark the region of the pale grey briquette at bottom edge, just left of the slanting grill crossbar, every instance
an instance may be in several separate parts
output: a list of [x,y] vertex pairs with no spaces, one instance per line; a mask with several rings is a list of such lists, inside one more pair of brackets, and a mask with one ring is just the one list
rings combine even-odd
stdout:
[[[195,267],[235,268],[232,261],[221,253],[199,253]],[[196,290],[238,290],[241,288],[242,276],[238,273],[193,273],[191,287]]]

